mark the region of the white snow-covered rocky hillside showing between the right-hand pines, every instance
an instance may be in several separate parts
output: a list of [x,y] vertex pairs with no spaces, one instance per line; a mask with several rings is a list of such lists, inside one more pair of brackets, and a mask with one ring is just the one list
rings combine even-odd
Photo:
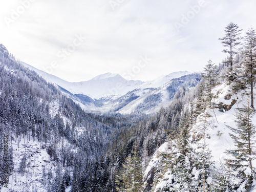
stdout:
[[[256,89],[254,90],[256,91]],[[234,121],[236,117],[236,109],[243,108],[244,105],[247,106],[247,96],[239,93],[238,95],[233,94],[231,92],[230,86],[227,86],[225,83],[222,83],[220,86],[216,87],[213,91],[215,96],[218,98],[215,100],[218,104],[218,108],[212,110],[208,109],[207,113],[210,117],[207,118],[207,128],[205,130],[205,144],[207,145],[210,154],[212,155],[212,169],[216,169],[219,172],[222,172],[221,168],[223,168],[223,163],[226,162],[227,159],[232,159],[230,155],[227,155],[225,152],[227,150],[235,149],[234,141],[230,137],[230,134],[234,134],[227,126],[237,127],[237,123]],[[254,102],[256,99],[254,99]],[[256,124],[256,115],[252,118],[252,123]],[[203,145],[202,138],[202,121],[197,119],[195,125],[190,129],[190,137],[189,142],[193,147],[195,153],[200,152],[200,145]],[[202,139],[201,139],[202,138]],[[196,140],[198,140],[196,142]],[[175,176],[173,175],[173,171],[166,168],[167,159],[166,156],[175,156],[177,154],[179,157],[179,151],[176,148],[176,140],[165,142],[157,152],[152,157],[150,163],[148,164],[145,173],[144,180],[147,182],[153,183],[154,178],[154,192],[157,191],[168,191],[167,188],[175,187],[179,189],[179,187],[184,185],[174,185]],[[197,158],[196,156],[194,158]],[[253,161],[253,167],[256,167],[256,160]],[[185,165],[184,165],[185,167]],[[194,171],[191,173],[191,180],[198,180],[199,174],[202,172],[200,169],[196,169],[194,167]],[[211,171],[213,172],[213,170]],[[152,175],[153,173],[153,175]],[[154,175],[155,174],[155,175]],[[208,184],[214,184],[214,180],[211,177],[205,178]],[[234,182],[236,182],[234,180]],[[146,184],[146,183],[145,183]],[[188,187],[188,186],[187,186]],[[256,188],[254,189],[256,191]],[[252,190],[252,191],[254,191]],[[180,189],[180,191],[185,191]],[[245,191],[243,185],[240,186],[240,190]]]

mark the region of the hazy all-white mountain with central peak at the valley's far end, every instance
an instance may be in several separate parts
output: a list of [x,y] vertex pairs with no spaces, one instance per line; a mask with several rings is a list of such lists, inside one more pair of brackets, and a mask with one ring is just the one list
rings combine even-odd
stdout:
[[134,90],[143,82],[140,80],[126,80],[119,74],[105,73],[91,80],[82,82],[68,82],[44,71],[38,70],[27,63],[21,62],[25,67],[37,72],[48,82],[57,84],[72,94],[83,94],[92,99],[119,97]]

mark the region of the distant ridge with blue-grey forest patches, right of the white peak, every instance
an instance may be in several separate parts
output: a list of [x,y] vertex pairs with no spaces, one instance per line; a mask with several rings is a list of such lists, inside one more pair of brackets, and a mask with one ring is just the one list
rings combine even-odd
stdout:
[[121,114],[154,114],[161,107],[169,105],[175,93],[182,87],[184,91],[188,90],[195,87],[200,80],[199,73],[187,71],[171,73],[154,81],[145,82],[135,90],[105,104],[103,107],[109,107],[111,111]]

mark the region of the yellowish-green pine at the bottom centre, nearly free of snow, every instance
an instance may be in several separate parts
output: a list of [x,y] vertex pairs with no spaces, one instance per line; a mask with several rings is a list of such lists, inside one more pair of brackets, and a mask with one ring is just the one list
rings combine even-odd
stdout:
[[132,151],[132,156],[126,158],[120,175],[117,175],[117,190],[139,192],[142,190],[142,180],[143,175],[139,152]]

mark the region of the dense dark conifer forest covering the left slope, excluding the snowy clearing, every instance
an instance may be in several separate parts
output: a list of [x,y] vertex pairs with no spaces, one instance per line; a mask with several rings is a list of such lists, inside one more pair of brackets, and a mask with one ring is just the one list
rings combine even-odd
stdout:
[[[76,187],[110,191],[113,187],[106,187],[106,182],[112,170],[108,170],[109,159],[105,158],[105,153],[118,136],[118,130],[130,126],[132,121],[84,112],[53,84],[19,65],[7,51],[0,53],[1,185],[4,179],[2,141],[6,134],[10,146],[12,142],[22,147],[22,144],[36,141],[41,148],[46,148],[51,161],[58,164],[56,170],[44,171],[43,182],[49,191],[61,191],[70,184],[73,191]],[[53,103],[58,105],[57,111],[51,108]],[[9,154],[11,163],[12,150]],[[17,170],[9,166],[9,174],[23,175],[27,164],[24,154]],[[75,186],[76,181],[78,186]]]

